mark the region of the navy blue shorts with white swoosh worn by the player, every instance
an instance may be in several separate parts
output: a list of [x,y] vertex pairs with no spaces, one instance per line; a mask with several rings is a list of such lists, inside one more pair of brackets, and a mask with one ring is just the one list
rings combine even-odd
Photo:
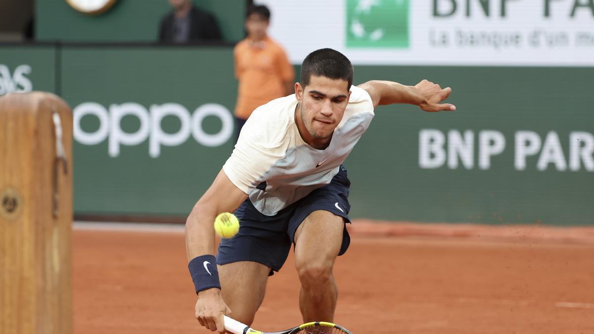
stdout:
[[[273,275],[285,263],[291,244],[295,243],[295,231],[310,213],[326,210],[350,223],[349,187],[346,168],[340,165],[330,184],[317,188],[274,216],[260,213],[248,198],[235,210],[241,227],[233,238],[221,241],[217,264],[254,261],[270,267],[270,275]],[[349,244],[345,227],[339,255],[345,254]]]

